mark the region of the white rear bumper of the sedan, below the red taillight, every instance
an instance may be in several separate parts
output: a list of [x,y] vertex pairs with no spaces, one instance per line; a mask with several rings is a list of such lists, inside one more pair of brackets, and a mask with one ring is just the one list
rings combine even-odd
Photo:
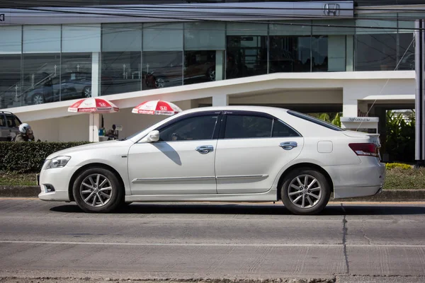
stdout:
[[375,158],[351,166],[329,166],[324,169],[334,182],[334,199],[369,197],[378,194],[385,182],[385,164]]

